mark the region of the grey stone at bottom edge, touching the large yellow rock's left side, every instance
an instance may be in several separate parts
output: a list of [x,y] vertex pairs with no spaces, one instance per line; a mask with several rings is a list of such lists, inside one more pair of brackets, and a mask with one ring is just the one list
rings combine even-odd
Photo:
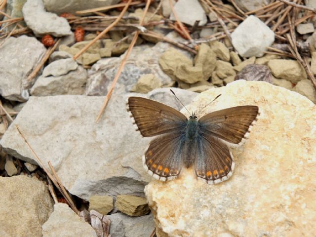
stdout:
[[155,228],[152,214],[130,217],[115,213],[106,217],[111,220],[110,235],[113,237],[149,237]]

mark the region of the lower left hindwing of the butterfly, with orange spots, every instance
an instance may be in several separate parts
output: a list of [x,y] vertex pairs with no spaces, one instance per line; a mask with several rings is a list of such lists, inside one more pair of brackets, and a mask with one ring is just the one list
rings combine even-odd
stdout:
[[156,179],[175,179],[183,166],[183,134],[167,133],[154,138],[143,156],[144,167]]

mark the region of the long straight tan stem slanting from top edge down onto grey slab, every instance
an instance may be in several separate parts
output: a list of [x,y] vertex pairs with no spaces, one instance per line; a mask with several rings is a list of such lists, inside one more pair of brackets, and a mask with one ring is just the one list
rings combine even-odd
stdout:
[[[131,0],[129,0],[128,2],[130,2],[130,1],[131,1]],[[147,11],[148,11],[148,8],[149,8],[149,6],[150,6],[150,3],[151,3],[151,0],[147,0],[146,6],[145,6],[145,9],[144,9],[144,13],[143,13],[143,16],[142,16],[142,19],[140,20],[140,23],[139,23],[140,26],[142,26],[143,23],[144,23],[144,19],[145,19],[146,13],[147,13]],[[125,6],[126,9],[127,9],[127,7],[128,7],[128,5]],[[124,9],[125,9],[125,8],[124,8]],[[126,10],[126,9],[125,9],[125,10]],[[126,60],[127,60],[128,56],[129,56],[129,54],[130,54],[132,48],[134,47],[134,45],[135,45],[135,43],[136,43],[136,40],[137,40],[137,38],[138,38],[138,35],[139,35],[139,31],[137,31],[137,32],[135,33],[134,38],[133,38],[133,40],[131,41],[131,43],[130,43],[130,45],[129,45],[127,51],[126,51],[126,54],[125,54],[123,60],[121,61],[120,65],[119,65],[119,67],[118,67],[118,72],[116,73],[116,75],[115,75],[115,77],[114,77],[114,79],[113,79],[111,88],[110,88],[108,94],[106,95],[106,98],[105,98],[105,100],[104,100],[104,102],[103,102],[102,108],[101,108],[101,110],[99,111],[99,114],[98,114],[97,118],[95,119],[95,122],[98,122],[98,121],[99,121],[99,119],[101,118],[101,116],[102,116],[102,114],[103,114],[103,111],[105,110],[105,107],[107,106],[107,104],[108,104],[108,102],[109,102],[109,100],[110,100],[110,98],[111,98],[111,95],[112,95],[112,93],[113,93],[113,91],[114,91],[115,85],[116,85],[116,83],[117,83],[117,81],[118,81],[118,78],[119,78],[121,72],[123,71],[123,68],[124,68],[124,65],[125,65],[125,63],[126,63]]]

